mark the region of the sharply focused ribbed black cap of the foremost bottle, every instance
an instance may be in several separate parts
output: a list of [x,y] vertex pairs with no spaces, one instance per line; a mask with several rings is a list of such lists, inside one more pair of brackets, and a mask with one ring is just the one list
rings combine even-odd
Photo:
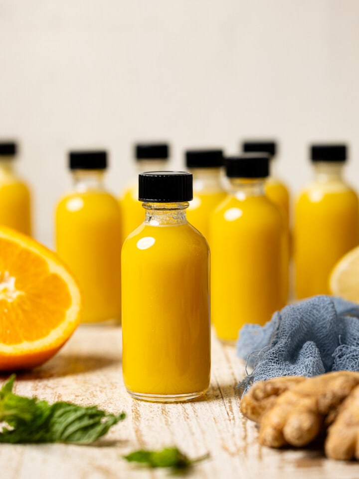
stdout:
[[149,171],[139,175],[139,200],[179,203],[193,199],[192,174],[184,171]]

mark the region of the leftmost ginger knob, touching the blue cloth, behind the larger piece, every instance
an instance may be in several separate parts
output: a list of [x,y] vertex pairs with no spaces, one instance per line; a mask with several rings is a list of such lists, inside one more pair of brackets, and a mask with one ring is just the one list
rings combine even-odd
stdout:
[[303,376],[283,376],[253,384],[241,401],[240,408],[242,414],[248,419],[259,423],[263,414],[274,406],[280,394],[305,379]]

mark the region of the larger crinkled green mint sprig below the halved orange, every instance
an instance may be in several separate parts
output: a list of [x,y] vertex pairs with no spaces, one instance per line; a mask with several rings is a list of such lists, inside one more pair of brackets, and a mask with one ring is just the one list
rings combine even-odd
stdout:
[[12,392],[15,375],[0,390],[0,443],[90,444],[104,436],[111,426],[125,419],[125,413],[108,414],[96,406],[67,402],[52,405],[37,398]]

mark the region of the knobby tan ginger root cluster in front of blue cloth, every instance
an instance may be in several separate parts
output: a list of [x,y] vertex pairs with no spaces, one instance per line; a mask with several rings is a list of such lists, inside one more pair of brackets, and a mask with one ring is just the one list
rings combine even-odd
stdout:
[[358,410],[359,373],[350,371],[261,381],[241,403],[243,415],[260,422],[259,442],[273,448],[306,446],[332,424],[325,450],[333,459],[359,458]]

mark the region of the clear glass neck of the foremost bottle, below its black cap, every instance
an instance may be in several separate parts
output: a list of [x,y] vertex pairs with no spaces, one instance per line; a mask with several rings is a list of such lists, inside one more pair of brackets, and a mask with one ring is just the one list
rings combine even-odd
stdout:
[[181,203],[150,203],[144,202],[142,206],[146,210],[145,224],[151,226],[163,226],[163,225],[185,225],[186,208],[188,208],[188,202]]

